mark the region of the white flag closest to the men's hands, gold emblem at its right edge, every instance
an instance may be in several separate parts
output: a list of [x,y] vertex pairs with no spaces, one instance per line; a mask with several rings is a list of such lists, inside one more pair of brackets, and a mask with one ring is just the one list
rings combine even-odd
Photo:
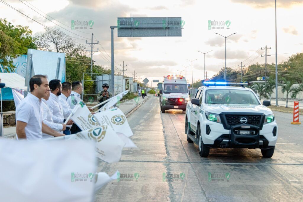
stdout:
[[73,113],[74,115],[71,119],[82,131],[93,129],[99,125],[95,120],[95,117],[82,101],[79,102],[79,106],[77,108],[74,108]]

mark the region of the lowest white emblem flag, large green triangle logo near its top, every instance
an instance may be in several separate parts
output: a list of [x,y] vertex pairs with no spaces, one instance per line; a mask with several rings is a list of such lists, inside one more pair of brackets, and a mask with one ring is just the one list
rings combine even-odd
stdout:
[[94,129],[81,131],[69,140],[93,140],[97,157],[108,163],[118,162],[121,158],[122,149],[125,143],[107,125],[101,125]]

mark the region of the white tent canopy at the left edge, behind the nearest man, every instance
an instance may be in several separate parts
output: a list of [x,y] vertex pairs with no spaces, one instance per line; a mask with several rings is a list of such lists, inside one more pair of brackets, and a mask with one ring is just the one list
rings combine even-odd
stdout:
[[5,87],[27,90],[25,85],[25,78],[16,73],[0,73],[1,82],[5,83]]

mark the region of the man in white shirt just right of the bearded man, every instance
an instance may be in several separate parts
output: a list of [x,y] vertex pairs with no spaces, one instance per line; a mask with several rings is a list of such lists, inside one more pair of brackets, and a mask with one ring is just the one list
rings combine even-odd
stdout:
[[[70,113],[72,112],[71,107],[68,104],[68,97],[72,93],[72,84],[70,82],[63,82],[62,83],[62,93],[59,96],[60,98],[60,104],[63,109],[63,118],[66,120]],[[67,126],[66,129],[63,131],[65,135],[70,135],[70,126]]]

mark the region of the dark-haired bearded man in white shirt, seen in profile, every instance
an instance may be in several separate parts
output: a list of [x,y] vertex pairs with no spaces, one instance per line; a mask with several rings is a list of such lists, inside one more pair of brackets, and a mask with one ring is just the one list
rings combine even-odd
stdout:
[[[53,79],[49,82],[49,88],[51,89],[51,95],[46,101],[46,104],[52,113],[52,119],[54,123],[64,123],[63,109],[60,103],[59,96],[62,92],[62,84],[58,79]],[[72,120],[69,120],[66,125],[72,125]],[[63,133],[63,131],[61,131]]]

